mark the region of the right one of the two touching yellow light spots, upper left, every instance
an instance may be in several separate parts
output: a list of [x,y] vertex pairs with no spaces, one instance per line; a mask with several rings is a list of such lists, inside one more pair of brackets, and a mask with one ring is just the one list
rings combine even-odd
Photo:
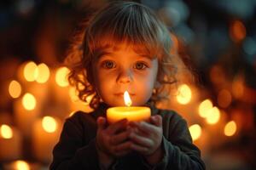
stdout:
[[36,81],[39,83],[47,82],[49,79],[49,68],[44,63],[38,65],[35,71]]

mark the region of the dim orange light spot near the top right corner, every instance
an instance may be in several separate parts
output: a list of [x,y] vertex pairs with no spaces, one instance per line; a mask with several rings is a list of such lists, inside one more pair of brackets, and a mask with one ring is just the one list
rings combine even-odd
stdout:
[[240,20],[235,20],[230,26],[230,37],[234,42],[240,42],[246,37],[246,27]]

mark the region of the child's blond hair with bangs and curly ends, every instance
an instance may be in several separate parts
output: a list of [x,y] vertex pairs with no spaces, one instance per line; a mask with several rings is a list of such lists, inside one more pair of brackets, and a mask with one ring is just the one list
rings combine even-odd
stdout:
[[150,102],[167,99],[169,85],[177,82],[175,54],[171,54],[170,32],[154,12],[140,3],[113,2],[84,20],[67,51],[68,81],[79,92],[79,99],[93,95],[90,107],[96,109],[100,97],[94,87],[93,66],[108,48],[118,44],[159,60],[159,70]]

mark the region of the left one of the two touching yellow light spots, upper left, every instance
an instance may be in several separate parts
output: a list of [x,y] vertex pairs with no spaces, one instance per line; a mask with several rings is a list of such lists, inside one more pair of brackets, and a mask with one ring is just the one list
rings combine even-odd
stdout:
[[37,70],[38,65],[36,65],[34,62],[28,62],[25,67],[24,67],[24,77],[27,82],[33,82],[36,79],[36,70]]

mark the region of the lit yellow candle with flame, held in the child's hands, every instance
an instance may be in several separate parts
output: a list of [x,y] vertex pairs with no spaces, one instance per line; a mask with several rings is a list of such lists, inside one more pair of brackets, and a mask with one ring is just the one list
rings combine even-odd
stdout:
[[143,106],[131,106],[131,98],[127,91],[125,91],[124,100],[126,106],[111,107],[107,110],[108,123],[111,124],[118,122],[125,118],[129,122],[139,122],[147,120],[150,117],[150,108]]

